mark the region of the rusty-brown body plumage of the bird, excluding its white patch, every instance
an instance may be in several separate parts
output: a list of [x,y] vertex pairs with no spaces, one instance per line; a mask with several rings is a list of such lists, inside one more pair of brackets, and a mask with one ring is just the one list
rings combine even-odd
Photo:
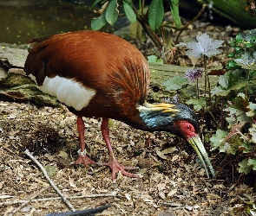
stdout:
[[58,75],[94,89],[95,98],[82,111],[74,111],[76,115],[133,124],[139,121],[137,105],[148,95],[147,60],[128,41],[102,32],[51,36],[30,50],[24,68],[39,86],[46,76]]

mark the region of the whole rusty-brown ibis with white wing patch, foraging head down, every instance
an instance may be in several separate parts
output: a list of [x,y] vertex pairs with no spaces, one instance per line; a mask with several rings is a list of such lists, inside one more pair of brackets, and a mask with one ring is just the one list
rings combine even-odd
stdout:
[[[95,31],[77,31],[29,41],[32,48],[24,71],[38,88],[56,96],[77,116],[80,156],[75,163],[94,164],[86,155],[82,117],[102,118],[102,137],[107,144],[112,178],[128,173],[115,159],[109,140],[108,118],[135,129],[167,131],[190,143],[207,172],[213,166],[201,143],[198,118],[187,105],[148,104],[148,62],[128,41]],[[204,158],[204,159],[203,159]],[[207,165],[206,165],[207,163]],[[207,172],[207,176],[208,172]]]

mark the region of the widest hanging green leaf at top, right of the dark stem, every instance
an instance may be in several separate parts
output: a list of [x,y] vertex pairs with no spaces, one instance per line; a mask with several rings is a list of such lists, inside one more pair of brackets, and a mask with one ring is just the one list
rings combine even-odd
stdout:
[[148,24],[153,31],[159,29],[163,16],[163,0],[153,0],[148,9]]

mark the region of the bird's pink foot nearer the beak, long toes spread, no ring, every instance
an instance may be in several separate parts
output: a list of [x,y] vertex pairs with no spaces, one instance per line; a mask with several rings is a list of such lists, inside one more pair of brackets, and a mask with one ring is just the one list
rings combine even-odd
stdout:
[[125,169],[127,169],[127,170],[138,169],[137,167],[123,166],[119,162],[117,162],[115,158],[113,160],[110,160],[109,162],[97,162],[96,164],[99,166],[108,166],[109,168],[111,168],[111,170],[112,170],[111,175],[112,175],[113,181],[115,180],[115,174],[117,174],[119,171],[121,171],[121,175],[126,175],[131,178],[141,177],[140,174],[132,174],[132,173],[128,173],[127,171],[125,171]]

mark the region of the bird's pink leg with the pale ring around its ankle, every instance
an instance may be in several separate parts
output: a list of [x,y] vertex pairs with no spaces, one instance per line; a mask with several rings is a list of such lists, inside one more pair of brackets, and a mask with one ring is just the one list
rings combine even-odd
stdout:
[[79,140],[80,140],[80,156],[75,162],[75,164],[82,163],[84,166],[89,167],[89,164],[95,164],[94,161],[90,160],[88,156],[86,156],[86,149],[84,143],[84,122],[82,117],[77,117],[76,120],[77,130],[79,133]]

